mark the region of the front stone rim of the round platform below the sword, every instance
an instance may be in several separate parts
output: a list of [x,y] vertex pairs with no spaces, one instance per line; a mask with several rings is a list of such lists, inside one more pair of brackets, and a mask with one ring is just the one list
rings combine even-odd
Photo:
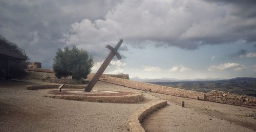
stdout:
[[119,103],[137,103],[143,101],[142,94],[131,94],[124,96],[79,96],[79,95],[45,95],[51,98],[60,98],[78,101],[92,101],[92,102],[119,102]]

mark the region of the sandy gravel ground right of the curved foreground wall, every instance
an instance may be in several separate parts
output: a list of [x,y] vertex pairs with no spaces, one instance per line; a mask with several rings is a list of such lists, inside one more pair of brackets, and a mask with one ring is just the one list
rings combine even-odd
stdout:
[[[146,131],[254,131],[256,109],[158,93],[168,106],[142,123]],[[185,108],[181,107],[185,101]]]

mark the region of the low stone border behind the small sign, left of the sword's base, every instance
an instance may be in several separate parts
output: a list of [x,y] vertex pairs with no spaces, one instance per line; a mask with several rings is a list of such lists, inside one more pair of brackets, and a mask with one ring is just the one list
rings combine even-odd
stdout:
[[[60,85],[28,85],[28,90],[57,89]],[[65,85],[62,89],[84,89],[87,85]]]

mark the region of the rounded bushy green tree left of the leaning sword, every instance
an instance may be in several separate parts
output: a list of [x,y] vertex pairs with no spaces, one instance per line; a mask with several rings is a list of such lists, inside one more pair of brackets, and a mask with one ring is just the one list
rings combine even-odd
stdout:
[[78,49],[73,45],[72,49],[65,47],[64,50],[58,49],[53,62],[55,76],[67,77],[80,80],[87,78],[93,66],[93,58],[83,49]]

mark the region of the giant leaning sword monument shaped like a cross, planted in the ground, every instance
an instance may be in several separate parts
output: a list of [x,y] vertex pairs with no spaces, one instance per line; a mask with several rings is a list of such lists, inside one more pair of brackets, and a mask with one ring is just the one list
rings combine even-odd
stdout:
[[113,48],[110,45],[106,45],[105,47],[110,49],[111,52],[109,54],[108,57],[106,57],[105,61],[103,62],[103,64],[100,66],[100,68],[98,69],[98,71],[96,72],[96,74],[93,76],[92,80],[90,81],[90,83],[88,84],[88,86],[86,87],[86,89],[84,89],[85,92],[91,92],[91,90],[93,89],[93,87],[95,86],[95,84],[97,83],[97,81],[99,80],[99,77],[102,75],[102,73],[105,71],[106,67],[108,67],[108,65],[110,64],[110,62],[112,61],[112,59],[114,58],[114,56],[116,55],[118,60],[121,60],[122,57],[120,56],[120,54],[117,52],[118,48],[121,46],[123,40],[121,39],[115,46],[115,48]]

